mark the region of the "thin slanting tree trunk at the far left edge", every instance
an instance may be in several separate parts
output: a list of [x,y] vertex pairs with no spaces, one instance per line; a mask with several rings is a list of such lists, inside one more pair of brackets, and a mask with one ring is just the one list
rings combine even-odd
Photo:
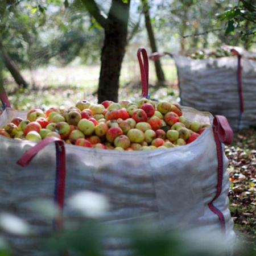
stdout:
[[27,82],[23,79],[22,75],[19,72],[19,69],[16,67],[14,61],[11,59],[9,54],[2,47],[1,43],[0,43],[0,51],[1,51],[3,63],[5,64],[6,68],[10,71],[16,84],[18,84],[19,87],[27,88],[28,86]]

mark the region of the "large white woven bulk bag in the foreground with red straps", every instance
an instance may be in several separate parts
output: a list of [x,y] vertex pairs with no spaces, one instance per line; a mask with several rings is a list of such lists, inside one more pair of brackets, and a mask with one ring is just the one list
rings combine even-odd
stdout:
[[[228,209],[230,181],[223,143],[230,143],[232,130],[222,116],[182,109],[190,121],[210,126],[192,143],[168,149],[100,150],[62,141],[34,143],[0,136],[0,212],[13,213],[39,232],[46,232],[52,230],[52,220],[31,212],[30,202],[51,199],[63,204],[65,226],[65,220],[76,214],[67,199],[86,189],[109,199],[111,208],[100,219],[102,223],[151,220],[166,232],[179,229],[224,235],[226,245],[232,247],[235,233]],[[0,127],[26,114],[6,108],[0,116]],[[26,154],[31,156],[29,164]],[[24,167],[17,164],[18,160]],[[60,168],[63,164],[65,168]],[[47,255],[36,238],[2,235],[13,246],[14,255]],[[125,243],[108,239],[104,253],[131,255]]]

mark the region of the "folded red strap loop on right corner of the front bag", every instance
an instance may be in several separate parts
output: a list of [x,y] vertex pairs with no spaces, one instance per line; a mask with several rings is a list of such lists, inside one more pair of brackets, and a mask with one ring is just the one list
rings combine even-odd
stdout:
[[233,130],[228,119],[224,115],[215,115],[213,118],[213,131],[218,135],[218,139],[224,144],[231,144],[233,141]]

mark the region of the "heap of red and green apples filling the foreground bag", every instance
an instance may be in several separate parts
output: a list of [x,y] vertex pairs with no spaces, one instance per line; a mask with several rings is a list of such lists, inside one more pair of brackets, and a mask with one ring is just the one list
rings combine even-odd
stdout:
[[65,143],[110,150],[152,150],[195,141],[209,126],[189,122],[179,104],[122,100],[93,104],[81,100],[71,108],[32,109],[27,117],[14,118],[0,135],[29,141],[54,136]]

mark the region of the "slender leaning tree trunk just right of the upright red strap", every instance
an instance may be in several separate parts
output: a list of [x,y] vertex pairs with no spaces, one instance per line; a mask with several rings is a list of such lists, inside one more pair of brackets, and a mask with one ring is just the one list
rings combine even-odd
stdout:
[[[148,35],[148,39],[150,42],[151,51],[157,52],[158,48],[156,47],[155,36],[154,36],[153,29],[152,29],[152,24],[150,22],[150,14],[149,14],[148,9],[149,9],[149,6],[148,6],[147,2],[144,2],[143,3],[143,13],[144,13],[144,17],[145,17],[145,25],[146,25],[146,29],[147,29],[147,35]],[[155,63],[155,71],[156,71],[156,77],[158,79],[158,82],[159,83],[164,82],[166,79],[164,77],[160,59],[155,60],[154,63]]]

